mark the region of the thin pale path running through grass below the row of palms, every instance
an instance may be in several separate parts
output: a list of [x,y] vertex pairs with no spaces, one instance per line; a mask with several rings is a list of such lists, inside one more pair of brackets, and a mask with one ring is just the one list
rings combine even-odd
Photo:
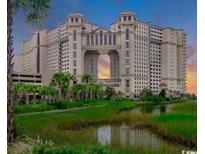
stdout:
[[68,111],[73,111],[73,110],[88,109],[88,108],[92,108],[92,107],[102,107],[102,106],[105,106],[105,105],[107,105],[107,104],[95,105],[95,106],[76,107],[76,108],[61,109],[61,110],[42,111],[42,112],[20,113],[20,114],[16,114],[16,115],[18,115],[18,116],[26,116],[26,115],[35,115],[35,114],[41,114],[41,113],[59,113],[59,112],[68,112]]

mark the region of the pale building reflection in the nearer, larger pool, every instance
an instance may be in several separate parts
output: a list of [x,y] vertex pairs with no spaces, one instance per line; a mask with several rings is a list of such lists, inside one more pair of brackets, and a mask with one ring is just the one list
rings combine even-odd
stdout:
[[160,148],[161,140],[147,129],[130,129],[126,125],[118,127],[107,125],[98,128],[98,143],[155,150]]

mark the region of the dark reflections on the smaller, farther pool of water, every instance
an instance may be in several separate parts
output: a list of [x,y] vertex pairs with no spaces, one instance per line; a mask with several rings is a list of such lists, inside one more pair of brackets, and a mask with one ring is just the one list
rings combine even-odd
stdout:
[[137,108],[132,109],[130,112],[134,112],[137,114],[144,114],[144,113],[152,113],[154,115],[160,115],[164,113],[168,113],[171,111],[172,104],[167,105],[144,105]]

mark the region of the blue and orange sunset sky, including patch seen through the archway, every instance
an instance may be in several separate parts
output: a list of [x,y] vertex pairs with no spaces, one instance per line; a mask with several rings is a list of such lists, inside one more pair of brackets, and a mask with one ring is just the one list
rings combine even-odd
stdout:
[[[47,19],[40,25],[25,22],[24,12],[14,15],[14,52],[20,41],[29,39],[37,29],[54,28],[65,23],[69,13],[83,14],[86,20],[109,28],[120,12],[132,11],[139,20],[164,27],[183,28],[187,33],[187,92],[197,93],[197,8],[196,0],[51,0]],[[99,59],[99,75],[109,75],[109,58]]]

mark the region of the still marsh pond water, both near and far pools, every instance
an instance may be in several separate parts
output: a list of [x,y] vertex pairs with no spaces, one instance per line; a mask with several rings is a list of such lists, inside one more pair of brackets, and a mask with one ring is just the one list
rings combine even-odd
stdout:
[[[159,115],[169,112],[171,107],[172,104],[162,106],[146,105],[123,112]],[[190,150],[188,147],[163,140],[146,128],[131,128],[126,124],[92,126],[80,130],[67,131],[67,133],[70,144],[101,144],[125,149],[143,148],[149,149],[153,153],[157,153],[159,150],[167,150],[169,153],[181,153],[182,150]]]

